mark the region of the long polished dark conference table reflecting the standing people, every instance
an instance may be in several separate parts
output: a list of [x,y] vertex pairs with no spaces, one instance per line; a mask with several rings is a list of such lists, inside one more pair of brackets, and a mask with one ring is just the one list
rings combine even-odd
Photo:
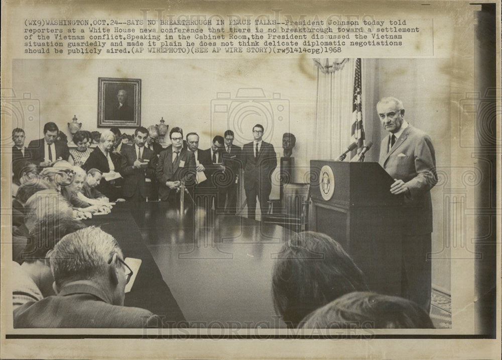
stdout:
[[274,311],[272,272],[290,230],[202,208],[182,216],[164,202],[117,203],[86,222],[113,235],[124,257],[142,259],[126,306],[175,327],[286,327]]

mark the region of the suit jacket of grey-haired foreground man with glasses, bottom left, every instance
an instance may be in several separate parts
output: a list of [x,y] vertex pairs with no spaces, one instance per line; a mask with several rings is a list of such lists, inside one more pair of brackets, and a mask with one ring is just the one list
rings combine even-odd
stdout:
[[161,326],[150,311],[112,305],[96,284],[76,281],[58,295],[28,302],[14,310],[14,328],[141,328]]

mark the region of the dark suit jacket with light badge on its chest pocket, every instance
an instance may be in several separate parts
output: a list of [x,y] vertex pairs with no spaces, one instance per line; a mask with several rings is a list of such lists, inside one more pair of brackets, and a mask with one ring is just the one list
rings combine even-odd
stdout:
[[164,149],[157,162],[157,180],[159,181],[159,196],[162,200],[169,197],[168,181],[183,181],[190,187],[195,182],[195,156],[193,152],[182,148],[178,160],[173,164],[173,147]]

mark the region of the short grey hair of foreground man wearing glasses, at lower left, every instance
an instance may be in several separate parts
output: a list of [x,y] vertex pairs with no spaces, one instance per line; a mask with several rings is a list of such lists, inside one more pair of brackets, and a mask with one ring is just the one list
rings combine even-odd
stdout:
[[108,281],[114,255],[123,256],[117,241],[98,227],[86,227],[64,236],[50,255],[56,287],[77,280]]

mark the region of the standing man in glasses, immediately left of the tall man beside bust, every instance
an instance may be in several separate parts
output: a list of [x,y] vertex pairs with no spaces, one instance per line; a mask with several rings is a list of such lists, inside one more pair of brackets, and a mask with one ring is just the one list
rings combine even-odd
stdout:
[[226,203],[225,213],[230,215],[237,213],[237,184],[241,167],[241,149],[233,144],[234,138],[232,130],[225,131],[223,164],[225,165],[225,178],[228,181],[226,185],[221,185],[218,189],[218,197],[221,198],[221,203],[223,205]]

